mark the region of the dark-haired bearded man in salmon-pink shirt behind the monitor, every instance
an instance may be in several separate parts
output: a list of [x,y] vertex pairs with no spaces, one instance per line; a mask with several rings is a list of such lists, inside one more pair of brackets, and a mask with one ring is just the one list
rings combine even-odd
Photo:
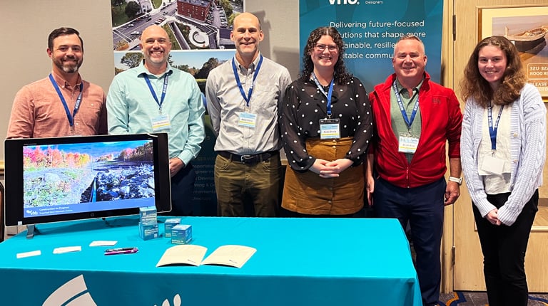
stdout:
[[16,94],[7,138],[106,134],[105,93],[78,73],[83,62],[80,33],[56,28],[46,51],[51,73]]

